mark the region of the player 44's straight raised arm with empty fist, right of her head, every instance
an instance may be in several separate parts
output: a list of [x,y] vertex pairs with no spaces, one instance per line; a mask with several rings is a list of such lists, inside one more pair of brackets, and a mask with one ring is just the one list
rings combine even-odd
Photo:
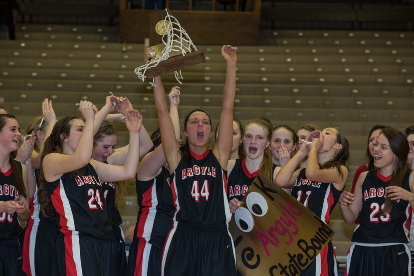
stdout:
[[231,144],[233,143],[233,107],[234,96],[236,93],[236,64],[237,48],[230,45],[223,45],[221,55],[226,61],[226,74],[222,98],[222,109],[220,114],[220,131],[212,152],[220,162],[222,168],[227,167],[228,159],[231,153]]

